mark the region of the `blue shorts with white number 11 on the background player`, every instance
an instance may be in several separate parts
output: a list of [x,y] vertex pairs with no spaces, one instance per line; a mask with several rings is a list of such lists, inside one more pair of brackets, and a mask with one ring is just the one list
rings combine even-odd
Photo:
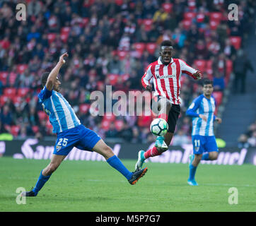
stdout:
[[200,155],[205,152],[219,151],[215,136],[192,136],[193,153]]

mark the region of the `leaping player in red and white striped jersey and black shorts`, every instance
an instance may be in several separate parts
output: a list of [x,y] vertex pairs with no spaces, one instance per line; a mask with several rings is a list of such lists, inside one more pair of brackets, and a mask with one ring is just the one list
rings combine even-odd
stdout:
[[202,73],[193,69],[182,61],[182,59],[173,59],[173,44],[169,40],[161,43],[160,57],[157,61],[149,64],[141,78],[141,83],[146,90],[151,91],[150,80],[153,79],[155,92],[153,101],[158,102],[158,117],[168,122],[168,132],[165,136],[158,136],[155,146],[146,152],[140,150],[135,169],[141,169],[144,160],[148,157],[161,155],[168,149],[170,141],[173,138],[176,122],[180,114],[180,76],[186,73],[194,79],[202,78]]

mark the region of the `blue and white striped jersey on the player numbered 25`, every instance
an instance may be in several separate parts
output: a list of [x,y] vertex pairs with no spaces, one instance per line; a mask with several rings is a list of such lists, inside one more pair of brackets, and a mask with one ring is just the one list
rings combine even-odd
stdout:
[[49,115],[53,133],[60,133],[81,124],[78,117],[76,117],[74,109],[61,93],[47,90],[45,86],[38,94],[38,97],[46,114]]

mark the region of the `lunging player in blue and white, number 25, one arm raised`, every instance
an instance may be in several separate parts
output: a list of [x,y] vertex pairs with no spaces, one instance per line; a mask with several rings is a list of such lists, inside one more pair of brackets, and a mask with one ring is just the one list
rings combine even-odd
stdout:
[[76,117],[74,109],[62,94],[59,93],[61,82],[59,81],[58,74],[59,69],[65,63],[64,57],[68,57],[68,54],[65,53],[59,57],[59,62],[50,73],[43,73],[41,81],[44,88],[38,95],[39,102],[49,115],[53,132],[57,133],[57,141],[54,146],[52,159],[50,164],[40,172],[35,188],[24,192],[22,196],[37,196],[45,182],[50,179],[52,173],[74,147],[81,150],[95,151],[103,155],[110,166],[123,174],[130,184],[135,184],[144,176],[147,167],[136,172],[130,172],[97,133],[81,124],[78,117]]

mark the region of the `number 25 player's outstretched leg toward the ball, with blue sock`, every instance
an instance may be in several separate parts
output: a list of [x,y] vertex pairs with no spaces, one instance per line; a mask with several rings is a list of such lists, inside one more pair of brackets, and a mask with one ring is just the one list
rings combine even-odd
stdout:
[[127,167],[123,165],[117,155],[112,152],[112,149],[102,139],[100,139],[98,143],[95,144],[92,150],[99,153],[100,155],[103,155],[105,160],[107,160],[107,163],[111,167],[117,169],[117,171],[119,171],[121,174],[123,174],[130,184],[136,184],[136,182],[144,176],[148,169],[146,167],[135,172],[130,172]]

